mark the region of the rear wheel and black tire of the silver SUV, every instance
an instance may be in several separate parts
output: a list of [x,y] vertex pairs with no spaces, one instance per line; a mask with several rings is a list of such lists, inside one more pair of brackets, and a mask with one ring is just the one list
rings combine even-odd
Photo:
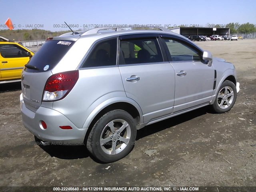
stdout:
[[[122,127],[121,120],[125,122],[124,124],[127,123],[128,126],[126,126],[126,128],[124,128],[122,132],[118,132],[118,129]],[[110,126],[108,126],[109,124],[113,125],[112,128],[114,129],[114,131],[112,131]],[[87,149],[96,159],[100,160],[101,162],[115,162],[124,158],[131,152],[134,147],[136,133],[136,122],[128,112],[124,110],[112,110],[104,114],[92,127],[92,130],[87,140]],[[129,136],[129,134],[130,139],[127,143],[118,140],[120,137],[124,138]],[[119,137],[114,140],[117,136]],[[105,142],[104,145],[100,144],[102,140],[110,138],[111,140]],[[127,138],[125,139],[127,140]],[[116,146],[114,145],[114,143],[116,144]],[[116,154],[111,154],[113,148]]]

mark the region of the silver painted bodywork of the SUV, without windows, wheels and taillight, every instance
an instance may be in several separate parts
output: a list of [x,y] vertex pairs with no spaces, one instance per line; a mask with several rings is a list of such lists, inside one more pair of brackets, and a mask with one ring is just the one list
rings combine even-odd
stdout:
[[[95,42],[125,34],[168,34],[188,41],[181,35],[156,30],[127,30],[69,36],[54,40],[73,40],[74,45],[58,64],[48,72],[22,72],[20,106],[24,126],[45,141],[82,142],[88,127],[104,108],[118,102],[128,103],[139,114],[139,128],[202,106],[213,104],[222,82],[236,70],[228,62],[213,58],[204,62],[159,62],[149,64],[116,65],[80,68]],[[52,75],[78,70],[74,88],[62,100],[42,102],[46,80]],[[217,72],[214,89],[214,70]],[[186,75],[177,75],[181,71]],[[127,78],[139,80],[127,81]],[[39,122],[47,123],[47,130]],[[72,126],[62,130],[59,126]],[[63,143],[62,143],[63,144]],[[76,143],[75,143],[76,144]]]

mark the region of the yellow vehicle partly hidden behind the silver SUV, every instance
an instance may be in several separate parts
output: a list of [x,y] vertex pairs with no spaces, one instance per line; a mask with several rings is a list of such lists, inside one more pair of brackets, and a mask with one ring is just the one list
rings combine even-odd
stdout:
[[22,44],[0,37],[0,84],[20,81],[22,69],[33,55]]

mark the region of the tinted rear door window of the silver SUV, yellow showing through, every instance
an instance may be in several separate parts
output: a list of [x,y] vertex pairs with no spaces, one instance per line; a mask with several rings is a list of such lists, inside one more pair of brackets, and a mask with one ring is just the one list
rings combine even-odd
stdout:
[[119,64],[162,62],[163,57],[156,38],[120,40]]

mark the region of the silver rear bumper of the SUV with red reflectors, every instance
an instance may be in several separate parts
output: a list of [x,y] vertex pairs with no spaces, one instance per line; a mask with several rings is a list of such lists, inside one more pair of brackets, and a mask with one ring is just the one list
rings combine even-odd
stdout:
[[[66,116],[56,110],[39,107],[36,112],[26,108],[22,94],[20,95],[22,122],[37,138],[52,144],[81,145],[87,129],[77,128]],[[47,128],[42,128],[41,121],[46,122]],[[60,126],[71,126],[71,130],[63,130]]]

